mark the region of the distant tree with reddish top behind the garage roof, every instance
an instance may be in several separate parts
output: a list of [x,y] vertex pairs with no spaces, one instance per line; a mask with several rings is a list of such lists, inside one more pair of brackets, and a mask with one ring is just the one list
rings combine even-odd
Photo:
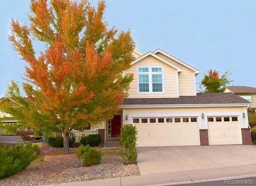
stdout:
[[224,92],[226,86],[234,81],[230,79],[230,75],[231,73],[226,71],[219,76],[217,70],[210,69],[207,74],[204,74],[202,81],[199,83],[200,90],[202,92]]

